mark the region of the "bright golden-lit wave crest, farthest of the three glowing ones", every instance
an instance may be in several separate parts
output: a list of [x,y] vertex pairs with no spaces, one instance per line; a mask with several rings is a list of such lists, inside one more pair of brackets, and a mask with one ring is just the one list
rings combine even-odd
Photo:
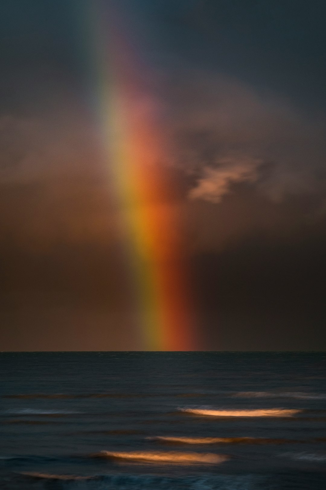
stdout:
[[209,410],[201,408],[178,408],[180,412],[208,417],[292,417],[302,412],[299,409],[269,408],[240,410]]

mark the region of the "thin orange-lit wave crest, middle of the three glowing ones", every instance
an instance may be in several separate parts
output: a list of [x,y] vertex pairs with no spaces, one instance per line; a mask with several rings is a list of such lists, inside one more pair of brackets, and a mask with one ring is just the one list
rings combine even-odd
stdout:
[[268,439],[262,437],[148,437],[152,441],[167,444],[294,444],[305,441],[292,439]]

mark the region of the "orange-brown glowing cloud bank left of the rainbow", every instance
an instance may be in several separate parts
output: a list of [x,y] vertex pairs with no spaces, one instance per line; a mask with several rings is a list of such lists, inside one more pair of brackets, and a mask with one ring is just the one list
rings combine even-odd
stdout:
[[117,240],[107,169],[92,127],[65,111],[0,118],[1,241],[47,249]]

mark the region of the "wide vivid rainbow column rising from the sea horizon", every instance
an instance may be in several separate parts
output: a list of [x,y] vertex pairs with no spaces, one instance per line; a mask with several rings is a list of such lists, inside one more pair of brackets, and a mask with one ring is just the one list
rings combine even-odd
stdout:
[[151,118],[151,102],[137,68],[141,63],[123,39],[121,23],[116,18],[103,21],[106,6],[98,2],[92,7],[98,108],[126,242],[136,328],[142,350],[195,350],[179,211],[168,170],[159,163],[164,138]]

